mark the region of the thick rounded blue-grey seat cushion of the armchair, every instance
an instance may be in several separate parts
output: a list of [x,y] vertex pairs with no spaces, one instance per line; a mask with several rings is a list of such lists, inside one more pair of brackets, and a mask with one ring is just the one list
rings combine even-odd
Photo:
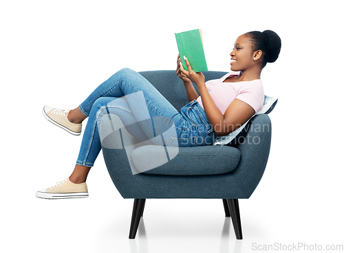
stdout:
[[[168,154],[168,156],[166,155]],[[157,175],[215,175],[233,171],[239,149],[228,146],[165,147],[147,145],[131,153],[133,165],[142,173]]]

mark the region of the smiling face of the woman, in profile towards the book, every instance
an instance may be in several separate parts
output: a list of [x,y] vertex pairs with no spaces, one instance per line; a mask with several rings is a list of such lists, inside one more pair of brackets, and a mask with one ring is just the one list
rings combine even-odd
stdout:
[[237,38],[234,49],[230,53],[230,70],[245,71],[255,64],[253,60],[253,51],[250,42],[247,40],[246,34]]

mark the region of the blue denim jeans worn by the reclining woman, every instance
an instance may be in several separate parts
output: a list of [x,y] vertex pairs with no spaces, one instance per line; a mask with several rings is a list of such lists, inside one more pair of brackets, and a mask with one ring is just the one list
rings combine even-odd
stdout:
[[149,124],[145,126],[147,115],[151,119],[171,119],[166,120],[169,125],[166,128],[173,125],[176,134],[164,136],[166,146],[212,145],[216,138],[197,101],[191,101],[178,112],[151,83],[131,69],[122,69],[100,84],[79,108],[89,119],[76,164],[87,167],[94,165],[101,149],[97,125],[109,113],[118,115],[124,125],[130,125],[130,134],[142,141],[151,139],[157,131]]

